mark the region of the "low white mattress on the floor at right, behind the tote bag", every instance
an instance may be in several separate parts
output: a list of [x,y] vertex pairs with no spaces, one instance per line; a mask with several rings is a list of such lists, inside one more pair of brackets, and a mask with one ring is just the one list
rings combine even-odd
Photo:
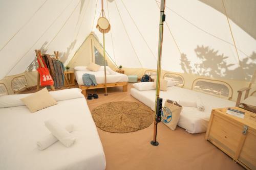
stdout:
[[[152,110],[155,110],[156,90],[139,91],[132,88],[131,94],[134,98],[138,99]],[[205,111],[199,111],[195,107],[183,107],[178,123],[179,127],[184,128],[189,133],[201,133],[206,131],[213,108],[233,107],[236,105],[236,103],[232,101],[176,86],[168,87],[167,91],[160,91],[160,98],[163,98],[163,104],[167,99],[174,101],[184,99],[196,101],[197,96],[201,98],[205,106]]]

